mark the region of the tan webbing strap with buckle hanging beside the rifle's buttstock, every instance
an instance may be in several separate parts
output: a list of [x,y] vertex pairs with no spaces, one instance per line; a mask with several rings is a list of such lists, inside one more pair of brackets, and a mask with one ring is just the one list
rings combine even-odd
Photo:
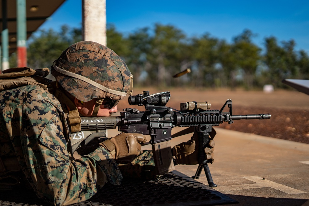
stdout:
[[56,89],[54,96],[59,100],[61,103],[62,108],[63,104],[66,104],[69,108],[69,115],[68,115],[68,123],[70,125],[70,130],[72,133],[80,132],[81,131],[81,118],[79,116],[79,112],[75,104],[65,95],[63,94],[58,88]]

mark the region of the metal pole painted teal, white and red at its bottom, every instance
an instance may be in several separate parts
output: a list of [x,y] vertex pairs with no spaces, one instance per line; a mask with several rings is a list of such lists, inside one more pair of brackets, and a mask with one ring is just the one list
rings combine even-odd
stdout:
[[17,67],[27,66],[26,0],[16,0],[17,14]]

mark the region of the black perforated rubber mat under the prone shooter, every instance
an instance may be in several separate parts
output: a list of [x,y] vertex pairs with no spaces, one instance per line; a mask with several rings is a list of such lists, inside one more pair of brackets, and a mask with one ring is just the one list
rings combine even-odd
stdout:
[[[46,205],[33,194],[5,192],[0,195],[0,205]],[[29,193],[29,192],[28,192]],[[4,195],[2,197],[2,195]],[[76,206],[148,206],[148,205],[220,205],[234,204],[237,201],[197,182],[176,170],[167,173],[159,180],[123,180],[121,186],[106,185],[91,199],[76,203]]]

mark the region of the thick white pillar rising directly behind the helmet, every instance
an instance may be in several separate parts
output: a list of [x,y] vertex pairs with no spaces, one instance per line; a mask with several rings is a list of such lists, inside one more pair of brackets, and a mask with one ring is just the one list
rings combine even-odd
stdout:
[[106,46],[106,0],[83,0],[83,40]]

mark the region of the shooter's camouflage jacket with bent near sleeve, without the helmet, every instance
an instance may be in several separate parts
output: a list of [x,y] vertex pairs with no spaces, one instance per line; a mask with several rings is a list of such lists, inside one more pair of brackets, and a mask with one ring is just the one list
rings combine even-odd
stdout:
[[68,125],[53,95],[28,85],[0,92],[0,105],[4,162],[0,169],[4,172],[9,167],[6,160],[17,155],[20,169],[38,197],[51,204],[72,204],[89,199],[107,182],[121,183],[121,172],[103,147],[69,159]]

